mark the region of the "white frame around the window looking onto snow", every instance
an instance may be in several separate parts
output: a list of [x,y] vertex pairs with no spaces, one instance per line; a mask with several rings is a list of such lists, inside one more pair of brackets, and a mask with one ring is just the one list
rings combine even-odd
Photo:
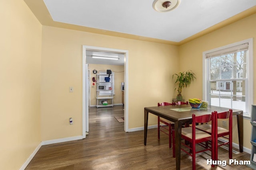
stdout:
[[209,53],[213,53],[213,52],[217,52],[220,50],[224,50],[224,49],[228,49],[228,48],[232,48],[235,47],[237,45],[241,45],[244,43],[248,43],[248,57],[246,57],[246,69],[247,69],[247,75],[248,77],[246,78],[248,81],[248,87],[246,88],[246,98],[248,101],[248,103],[246,103],[246,110],[248,112],[244,111],[244,117],[250,118],[251,117],[251,108],[252,108],[252,104],[253,104],[253,38],[250,39],[246,39],[243,41],[239,41],[236,43],[232,43],[229,45],[225,45],[222,47],[218,47],[216,49],[212,49],[212,50],[208,50],[208,51],[204,51],[202,54],[202,59],[203,59],[203,68],[202,68],[202,72],[203,72],[203,100],[208,101],[209,100],[209,86],[208,86],[208,82],[209,82],[209,77],[210,77],[210,72],[208,71],[207,65],[207,58],[206,55]]

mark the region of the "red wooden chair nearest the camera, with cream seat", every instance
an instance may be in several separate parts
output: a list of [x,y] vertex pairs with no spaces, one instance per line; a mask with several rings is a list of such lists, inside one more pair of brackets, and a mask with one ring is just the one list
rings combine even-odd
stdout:
[[[213,146],[214,145],[214,133],[212,135],[205,133],[204,131],[200,131],[196,129],[196,123],[207,123],[210,122],[211,120],[214,120],[214,112],[208,115],[201,115],[201,116],[196,116],[195,114],[192,114],[192,127],[184,127],[181,130],[181,138],[184,139],[185,141],[188,141],[190,145],[186,145],[186,143],[181,142],[182,146],[186,146],[189,148],[190,152],[186,151],[181,147],[181,150],[186,152],[188,155],[192,156],[192,169],[196,170],[196,154],[199,152],[204,152],[206,150],[211,150],[212,152],[212,159],[214,159],[214,150]],[[212,126],[212,131],[215,131],[215,126]],[[175,135],[174,135],[174,129],[172,129],[172,153],[173,157],[175,158]],[[208,142],[212,141],[211,147],[208,145],[203,146],[201,143],[203,142]],[[197,150],[196,151],[196,144],[204,147],[203,150]],[[214,167],[214,165],[212,165]]]

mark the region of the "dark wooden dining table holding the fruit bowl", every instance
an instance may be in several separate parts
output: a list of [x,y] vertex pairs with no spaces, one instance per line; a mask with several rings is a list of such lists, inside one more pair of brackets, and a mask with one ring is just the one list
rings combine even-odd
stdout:
[[[174,122],[176,170],[180,170],[182,124],[191,123],[192,114],[198,116],[211,114],[212,111],[223,112],[228,111],[229,109],[230,108],[218,106],[208,106],[207,108],[196,109],[186,104],[144,107],[144,145],[146,146],[147,143],[148,113],[152,113],[154,115],[160,116],[164,119]],[[243,152],[243,111],[239,109],[233,109],[233,115],[237,116],[239,151]]]

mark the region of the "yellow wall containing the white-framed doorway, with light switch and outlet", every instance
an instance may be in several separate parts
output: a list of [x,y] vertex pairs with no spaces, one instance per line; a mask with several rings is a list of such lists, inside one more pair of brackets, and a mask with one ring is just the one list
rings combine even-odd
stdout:
[[[82,135],[82,45],[128,50],[129,129],[144,126],[144,107],[174,96],[178,47],[43,26],[42,141]],[[156,117],[151,115],[152,124]]]

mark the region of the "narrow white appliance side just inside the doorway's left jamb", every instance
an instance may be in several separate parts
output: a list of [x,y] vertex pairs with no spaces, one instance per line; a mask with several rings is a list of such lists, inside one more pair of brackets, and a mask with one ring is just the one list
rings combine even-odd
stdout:
[[90,100],[90,71],[88,69],[88,63],[85,64],[85,78],[86,78],[86,135],[89,134],[89,100]]

